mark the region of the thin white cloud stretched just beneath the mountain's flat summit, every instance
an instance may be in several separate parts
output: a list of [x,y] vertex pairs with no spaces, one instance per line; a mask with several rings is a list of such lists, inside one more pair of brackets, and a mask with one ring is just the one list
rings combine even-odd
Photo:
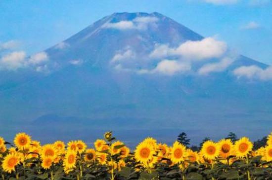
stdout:
[[148,25],[155,24],[158,21],[156,17],[136,17],[132,21],[120,21],[116,23],[106,23],[102,28],[113,28],[118,30],[144,30]]

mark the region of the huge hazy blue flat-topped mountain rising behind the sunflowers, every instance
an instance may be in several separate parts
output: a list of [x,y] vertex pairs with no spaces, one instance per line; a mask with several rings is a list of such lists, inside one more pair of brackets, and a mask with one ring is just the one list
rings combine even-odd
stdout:
[[[158,48],[203,39],[159,13],[104,17],[45,50],[46,72],[0,72],[0,134],[11,138],[26,131],[44,142],[91,142],[113,130],[131,145],[148,135],[171,143],[181,131],[193,142],[205,136],[217,140],[229,131],[255,139],[268,134],[272,83],[233,74],[242,66],[267,65],[231,55],[224,71],[199,74],[231,53],[188,63],[174,50]],[[152,55],[156,48],[163,57]],[[177,66],[186,72],[159,69],[165,59],[185,62]]]

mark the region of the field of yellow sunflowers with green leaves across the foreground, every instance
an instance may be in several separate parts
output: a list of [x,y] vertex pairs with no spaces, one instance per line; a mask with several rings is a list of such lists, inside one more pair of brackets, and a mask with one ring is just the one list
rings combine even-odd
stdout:
[[94,148],[83,141],[41,145],[25,133],[0,138],[1,180],[272,180],[272,134],[253,150],[243,137],[206,141],[196,152],[146,138],[131,150],[107,132]]

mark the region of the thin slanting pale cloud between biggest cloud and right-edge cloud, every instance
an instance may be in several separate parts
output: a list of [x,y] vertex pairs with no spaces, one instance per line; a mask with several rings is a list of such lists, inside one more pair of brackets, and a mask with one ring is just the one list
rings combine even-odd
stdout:
[[223,72],[233,62],[233,59],[225,57],[218,63],[209,63],[202,66],[199,70],[199,74],[209,74],[211,72]]

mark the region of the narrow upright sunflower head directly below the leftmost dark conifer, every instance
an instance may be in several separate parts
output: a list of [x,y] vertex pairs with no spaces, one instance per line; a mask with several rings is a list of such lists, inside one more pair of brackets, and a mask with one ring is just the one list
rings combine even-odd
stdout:
[[176,141],[171,149],[171,161],[173,163],[180,163],[184,161],[185,154],[186,147]]

